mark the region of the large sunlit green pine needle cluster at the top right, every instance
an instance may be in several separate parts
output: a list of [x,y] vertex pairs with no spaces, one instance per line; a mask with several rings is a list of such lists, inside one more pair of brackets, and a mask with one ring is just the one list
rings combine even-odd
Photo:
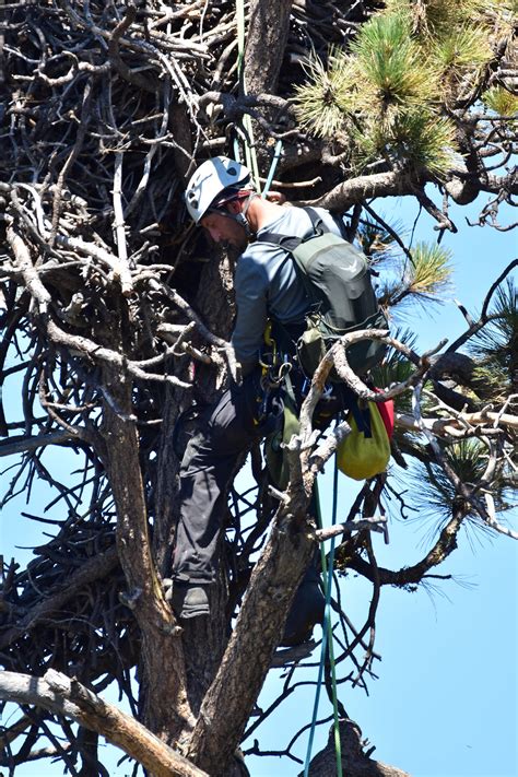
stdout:
[[[514,0],[387,0],[363,24],[350,51],[313,59],[295,89],[295,110],[310,133],[349,153],[350,172],[426,169],[442,179],[456,166],[448,116],[478,83],[497,33],[510,34]],[[509,108],[501,92],[492,109]]]

